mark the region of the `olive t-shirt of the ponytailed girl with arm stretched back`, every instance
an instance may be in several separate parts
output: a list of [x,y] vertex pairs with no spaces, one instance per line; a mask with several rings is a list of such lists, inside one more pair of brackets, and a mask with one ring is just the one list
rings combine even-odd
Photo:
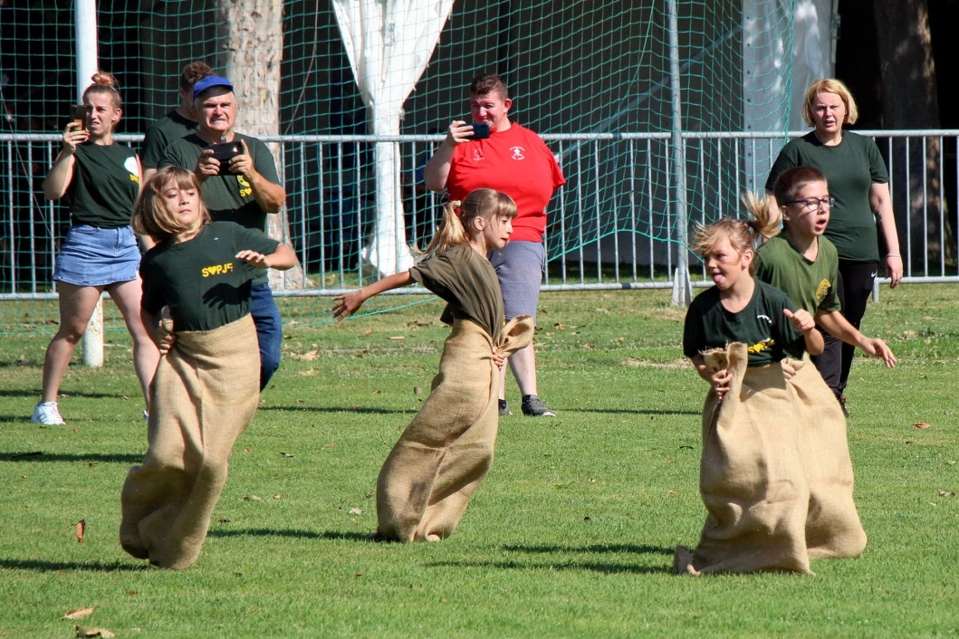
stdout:
[[495,341],[503,328],[503,292],[493,265],[468,245],[454,246],[409,269],[413,280],[448,302],[440,317],[476,322]]

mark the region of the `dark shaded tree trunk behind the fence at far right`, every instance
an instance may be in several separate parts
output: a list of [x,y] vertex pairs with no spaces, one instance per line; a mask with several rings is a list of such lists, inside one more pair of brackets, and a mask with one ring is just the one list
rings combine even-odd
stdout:
[[[884,128],[939,128],[936,101],[936,66],[932,57],[926,0],[896,0],[874,5],[882,86],[881,124]],[[942,257],[954,259],[955,229],[947,219],[940,224],[944,202],[940,198],[941,143],[930,140],[906,144],[896,140],[889,161],[894,184],[908,184],[909,194],[894,194],[903,262],[916,274],[937,265]],[[908,182],[906,174],[908,171]],[[909,240],[902,235],[909,231]],[[944,256],[943,251],[947,251]],[[911,256],[911,260],[908,256]],[[929,262],[926,262],[928,260]],[[929,270],[931,274],[938,272]],[[908,274],[908,273],[907,273]]]

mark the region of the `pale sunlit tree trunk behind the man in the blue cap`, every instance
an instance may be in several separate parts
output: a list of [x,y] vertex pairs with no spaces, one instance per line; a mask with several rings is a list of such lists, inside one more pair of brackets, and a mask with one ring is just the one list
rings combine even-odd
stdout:
[[[236,129],[246,135],[266,137],[280,133],[280,60],[283,58],[282,0],[219,0],[222,52],[220,64],[233,83],[239,108]],[[282,149],[269,144],[284,181]],[[270,238],[289,241],[286,207],[268,217]],[[298,247],[293,247],[294,249]],[[271,285],[305,288],[310,285],[302,266],[288,271],[270,270]]]

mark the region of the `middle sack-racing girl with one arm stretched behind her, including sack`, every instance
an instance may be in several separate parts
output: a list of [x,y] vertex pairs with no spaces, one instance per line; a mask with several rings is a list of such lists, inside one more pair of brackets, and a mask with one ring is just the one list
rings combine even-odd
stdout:
[[528,315],[503,326],[503,295],[487,259],[509,240],[513,217],[509,195],[473,191],[447,204],[422,260],[409,271],[335,298],[339,321],[373,295],[417,282],[448,303],[440,319],[453,326],[430,397],[380,470],[373,538],[436,541],[452,535],[493,463],[499,369],[533,333]]

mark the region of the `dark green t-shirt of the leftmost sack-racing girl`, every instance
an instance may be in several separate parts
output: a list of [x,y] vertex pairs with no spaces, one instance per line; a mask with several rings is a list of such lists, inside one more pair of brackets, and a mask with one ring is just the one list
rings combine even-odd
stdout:
[[234,256],[251,249],[264,255],[279,242],[233,222],[212,222],[193,240],[163,241],[140,262],[144,310],[170,307],[175,331],[213,331],[249,312],[251,281],[265,269]]

